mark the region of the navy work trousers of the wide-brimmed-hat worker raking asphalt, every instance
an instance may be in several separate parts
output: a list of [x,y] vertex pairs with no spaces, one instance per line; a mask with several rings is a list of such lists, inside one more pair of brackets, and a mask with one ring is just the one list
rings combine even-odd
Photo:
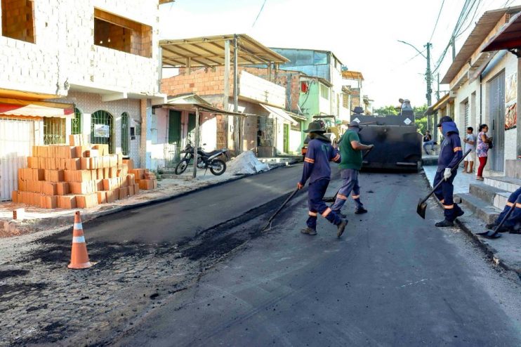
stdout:
[[322,201],[322,197],[326,194],[327,186],[329,185],[329,180],[324,178],[322,180],[315,181],[310,183],[308,188],[308,207],[309,207],[309,217],[306,224],[308,227],[313,230],[317,230],[317,216],[321,214],[322,217],[326,218],[330,223],[334,225],[338,225],[341,222],[341,218],[338,217],[334,211],[331,211],[327,204]]

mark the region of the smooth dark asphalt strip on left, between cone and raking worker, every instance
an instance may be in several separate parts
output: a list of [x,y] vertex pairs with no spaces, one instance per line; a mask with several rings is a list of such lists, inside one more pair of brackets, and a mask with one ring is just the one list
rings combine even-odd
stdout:
[[[302,165],[283,166],[169,202],[104,216],[88,223],[86,237],[89,243],[180,242],[293,190],[301,173]],[[70,242],[70,233],[61,238]]]

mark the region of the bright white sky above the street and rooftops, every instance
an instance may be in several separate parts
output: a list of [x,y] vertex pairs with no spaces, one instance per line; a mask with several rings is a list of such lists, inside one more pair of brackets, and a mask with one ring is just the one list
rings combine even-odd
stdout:
[[[161,6],[161,38],[181,39],[216,34],[249,34],[265,46],[315,48],[333,51],[349,70],[364,74],[364,94],[375,105],[426,103],[423,51],[429,41],[442,0],[176,0]],[[464,0],[445,0],[431,42],[435,65],[449,41]],[[456,40],[461,48],[480,15],[487,10],[520,5],[521,0],[482,0],[470,14]],[[451,63],[447,54],[440,79]],[[436,77],[433,90],[437,89]],[[441,90],[447,90],[442,86]],[[435,94],[433,93],[433,100]]]

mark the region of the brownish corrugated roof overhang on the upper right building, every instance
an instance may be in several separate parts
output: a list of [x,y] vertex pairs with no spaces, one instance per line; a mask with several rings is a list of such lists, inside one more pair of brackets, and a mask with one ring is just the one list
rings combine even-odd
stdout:
[[473,31],[470,33],[465,41],[465,44],[461,47],[456,58],[452,62],[449,70],[443,77],[441,83],[449,84],[461,68],[468,63],[468,60],[482,44],[483,40],[487,38],[492,29],[496,26],[497,22],[501,19],[505,13],[516,13],[521,11],[521,6],[514,6],[509,8],[499,8],[497,10],[487,11],[483,13],[480,20],[477,21]]

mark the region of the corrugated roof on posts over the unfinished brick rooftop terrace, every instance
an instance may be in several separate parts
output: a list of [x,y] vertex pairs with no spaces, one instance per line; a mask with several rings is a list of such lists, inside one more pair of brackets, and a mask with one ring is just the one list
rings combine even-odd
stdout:
[[230,59],[233,40],[237,37],[239,65],[286,63],[279,53],[260,44],[246,34],[231,34],[192,39],[161,40],[162,62],[171,67],[214,67],[225,65],[225,41],[230,40]]

